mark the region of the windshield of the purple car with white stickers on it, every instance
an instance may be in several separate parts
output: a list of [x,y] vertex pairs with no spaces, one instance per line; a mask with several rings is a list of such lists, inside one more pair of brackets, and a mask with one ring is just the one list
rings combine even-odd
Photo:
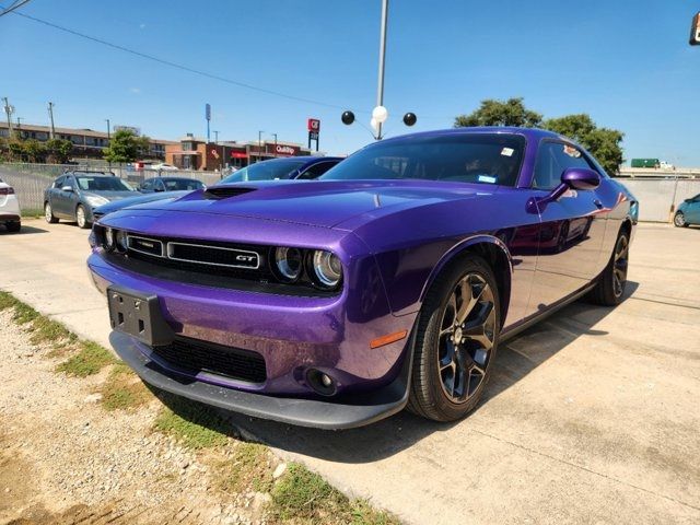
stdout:
[[525,139],[516,135],[406,137],[368,145],[320,179],[427,179],[514,186],[524,148]]

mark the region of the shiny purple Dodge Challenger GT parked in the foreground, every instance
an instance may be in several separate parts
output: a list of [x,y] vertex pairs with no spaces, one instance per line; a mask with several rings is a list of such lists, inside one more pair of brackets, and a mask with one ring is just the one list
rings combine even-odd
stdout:
[[317,180],[212,186],[95,224],[117,353],[206,404],[340,429],[464,417],[499,342],[625,293],[634,197],[574,142],[465,128]]

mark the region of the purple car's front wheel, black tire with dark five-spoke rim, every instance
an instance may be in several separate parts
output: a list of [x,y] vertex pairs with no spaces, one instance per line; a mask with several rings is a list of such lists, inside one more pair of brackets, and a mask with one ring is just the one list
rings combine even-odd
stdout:
[[447,267],[421,307],[408,409],[455,421],[479,402],[495,357],[500,328],[498,284],[478,256]]

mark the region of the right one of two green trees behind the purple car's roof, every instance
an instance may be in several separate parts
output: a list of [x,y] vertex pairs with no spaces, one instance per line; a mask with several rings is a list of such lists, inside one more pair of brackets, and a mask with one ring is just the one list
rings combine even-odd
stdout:
[[598,128],[586,114],[549,118],[542,122],[545,129],[575,140],[595,156],[603,168],[611,175],[620,171],[622,158],[622,138],[625,133],[617,129]]

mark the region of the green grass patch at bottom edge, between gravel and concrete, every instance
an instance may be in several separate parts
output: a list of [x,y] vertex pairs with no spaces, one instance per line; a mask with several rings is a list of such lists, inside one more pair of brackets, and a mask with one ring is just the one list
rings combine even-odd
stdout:
[[291,463],[271,491],[269,511],[292,523],[395,525],[393,515],[372,509],[366,501],[349,500],[324,478],[303,465]]

